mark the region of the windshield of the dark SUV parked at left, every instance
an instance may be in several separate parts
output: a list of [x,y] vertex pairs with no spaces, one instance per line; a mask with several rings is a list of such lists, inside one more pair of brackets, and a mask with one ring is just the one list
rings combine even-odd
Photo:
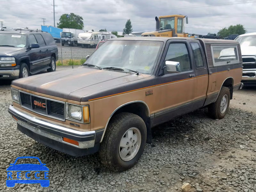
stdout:
[[26,35],[24,34],[0,34],[0,46],[25,47]]

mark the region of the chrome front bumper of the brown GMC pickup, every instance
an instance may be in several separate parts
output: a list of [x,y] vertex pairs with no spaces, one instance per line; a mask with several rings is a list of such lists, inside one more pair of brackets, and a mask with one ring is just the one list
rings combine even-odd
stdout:
[[[48,138],[60,142],[65,145],[70,145],[74,148],[93,148],[95,143],[95,131],[82,132],[78,130],[73,130],[60,126],[57,124],[52,124],[46,122],[45,120],[38,119],[30,114],[26,114],[10,106],[8,109],[9,113],[18,119],[17,124],[20,125],[23,129],[30,130],[38,136]],[[29,135],[28,135],[29,136]],[[63,137],[70,138],[72,140],[78,141],[79,145],[73,145],[63,141]],[[46,144],[47,145],[47,144]],[[52,147],[52,146],[51,146]],[[52,147],[54,148],[54,147]]]

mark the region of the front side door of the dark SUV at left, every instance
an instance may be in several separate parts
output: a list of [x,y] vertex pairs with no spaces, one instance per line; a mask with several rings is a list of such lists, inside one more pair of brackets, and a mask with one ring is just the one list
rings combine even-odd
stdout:
[[[38,43],[38,41],[36,40],[33,34],[30,34],[28,36],[28,41],[30,46],[32,43]],[[41,64],[44,62],[44,59],[42,57],[41,47],[30,49],[29,54],[30,54],[30,62],[32,63],[32,65],[30,66],[30,70],[33,71],[35,69],[40,68]]]

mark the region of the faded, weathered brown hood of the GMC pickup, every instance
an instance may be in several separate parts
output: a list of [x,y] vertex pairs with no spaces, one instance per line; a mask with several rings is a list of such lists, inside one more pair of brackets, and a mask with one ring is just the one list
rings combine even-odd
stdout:
[[14,80],[17,86],[33,92],[55,96],[59,98],[81,101],[82,97],[94,93],[104,92],[110,87],[118,86],[150,75],[124,73],[110,70],[99,70],[88,67],[78,67],[39,74]]

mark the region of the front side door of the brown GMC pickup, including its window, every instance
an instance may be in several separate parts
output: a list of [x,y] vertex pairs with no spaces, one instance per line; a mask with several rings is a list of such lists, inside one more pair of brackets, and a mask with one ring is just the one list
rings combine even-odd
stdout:
[[168,73],[164,68],[164,75],[157,78],[162,86],[154,90],[159,96],[153,125],[192,111],[194,104],[196,78],[189,41],[169,40],[163,58],[161,69],[166,61],[174,61],[179,62],[181,72]]

